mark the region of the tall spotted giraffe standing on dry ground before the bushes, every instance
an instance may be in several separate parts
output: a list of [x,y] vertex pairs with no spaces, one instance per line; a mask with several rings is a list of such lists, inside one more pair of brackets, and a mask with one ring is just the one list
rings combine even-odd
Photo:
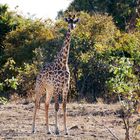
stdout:
[[74,29],[74,25],[79,21],[75,19],[74,16],[65,18],[65,21],[68,22],[68,30],[66,33],[66,38],[64,44],[58,52],[56,58],[53,62],[46,64],[36,78],[35,86],[35,110],[33,115],[33,124],[32,124],[32,133],[35,132],[35,120],[37,109],[40,107],[40,98],[46,94],[45,100],[45,118],[46,118],[46,129],[47,134],[51,134],[49,129],[49,118],[48,110],[51,98],[54,97],[54,108],[55,108],[55,134],[59,134],[58,129],[58,117],[57,113],[59,110],[59,95],[62,96],[62,109],[63,109],[63,122],[64,122],[64,132],[65,135],[68,135],[67,126],[66,126],[66,103],[67,103],[67,94],[69,90],[70,83],[70,72],[68,67],[68,58],[70,50],[70,40],[71,40],[71,30]]

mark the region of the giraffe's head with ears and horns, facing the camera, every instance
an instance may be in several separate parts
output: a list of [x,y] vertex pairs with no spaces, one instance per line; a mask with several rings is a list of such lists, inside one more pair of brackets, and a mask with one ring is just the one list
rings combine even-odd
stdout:
[[75,27],[75,24],[79,21],[79,18],[75,18],[75,15],[71,16],[69,15],[68,18],[65,18],[65,21],[68,22],[68,27],[70,30],[73,30]]

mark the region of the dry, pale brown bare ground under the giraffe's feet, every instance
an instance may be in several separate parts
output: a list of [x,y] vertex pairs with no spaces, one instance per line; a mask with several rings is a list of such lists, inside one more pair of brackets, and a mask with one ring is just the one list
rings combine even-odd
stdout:
[[[63,114],[59,110],[60,135],[54,135],[54,105],[49,109],[51,135],[45,133],[44,104],[37,112],[36,133],[31,133],[33,103],[9,103],[0,105],[0,139],[22,140],[124,140],[125,130],[119,116],[119,104],[79,104],[67,105],[67,126],[69,135],[63,131]],[[131,117],[130,135],[134,130],[134,123],[139,120],[140,114]]]

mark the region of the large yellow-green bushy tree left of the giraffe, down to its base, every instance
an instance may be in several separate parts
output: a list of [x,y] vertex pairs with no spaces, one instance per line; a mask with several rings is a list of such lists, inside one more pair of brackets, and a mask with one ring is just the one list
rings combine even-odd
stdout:
[[14,90],[19,95],[27,95],[33,89],[36,74],[44,60],[43,56],[49,54],[45,48],[53,50],[46,43],[54,38],[50,25],[52,21],[43,22],[20,17],[18,23],[15,29],[6,33],[3,40],[5,47],[2,57],[4,62],[0,69],[0,89],[8,93],[8,96]]

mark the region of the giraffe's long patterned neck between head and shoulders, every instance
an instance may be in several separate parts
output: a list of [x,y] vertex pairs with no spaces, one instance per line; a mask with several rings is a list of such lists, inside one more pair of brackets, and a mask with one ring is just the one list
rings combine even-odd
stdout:
[[60,67],[65,67],[68,64],[70,40],[71,40],[70,36],[71,36],[70,29],[68,29],[63,47],[61,48],[60,52],[57,54],[57,57],[55,59],[55,63],[57,63],[57,65]]

